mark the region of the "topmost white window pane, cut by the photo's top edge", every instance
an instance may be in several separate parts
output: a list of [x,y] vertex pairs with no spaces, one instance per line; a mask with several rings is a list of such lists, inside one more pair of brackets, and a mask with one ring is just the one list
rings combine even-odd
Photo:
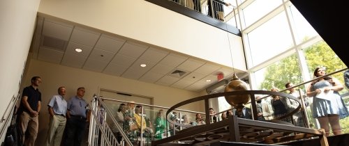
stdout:
[[274,8],[280,6],[281,3],[282,1],[280,0],[253,1],[253,3],[243,10],[246,27],[250,26],[264,15],[267,15],[267,13],[274,10]]

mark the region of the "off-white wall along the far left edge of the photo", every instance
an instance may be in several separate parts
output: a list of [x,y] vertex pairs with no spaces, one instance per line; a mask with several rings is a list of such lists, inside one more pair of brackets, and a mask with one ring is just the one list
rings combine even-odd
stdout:
[[[17,97],[24,63],[34,33],[40,0],[0,1],[0,116],[5,113],[10,99]],[[12,103],[12,102],[11,102]],[[3,127],[3,122],[1,122]],[[5,134],[1,136],[3,142]]]

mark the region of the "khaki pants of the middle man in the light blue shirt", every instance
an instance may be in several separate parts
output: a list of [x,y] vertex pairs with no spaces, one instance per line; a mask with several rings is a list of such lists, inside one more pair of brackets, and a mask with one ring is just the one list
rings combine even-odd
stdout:
[[50,123],[47,131],[46,145],[59,146],[66,127],[66,117],[62,115],[50,116]]

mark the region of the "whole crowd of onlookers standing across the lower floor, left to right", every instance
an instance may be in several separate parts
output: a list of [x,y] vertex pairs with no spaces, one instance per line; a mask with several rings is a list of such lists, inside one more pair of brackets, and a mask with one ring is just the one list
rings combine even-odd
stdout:
[[[306,89],[306,96],[313,97],[313,104],[311,106],[312,115],[320,123],[320,128],[325,129],[327,136],[329,136],[330,127],[334,135],[341,134],[339,119],[348,117],[349,115],[348,109],[343,103],[341,95],[339,95],[339,91],[343,90],[344,87],[338,79],[332,76],[319,78],[319,76],[325,75],[324,67],[317,67],[313,75],[316,80]],[[349,71],[345,72],[344,77],[346,85],[349,86],[349,83],[347,84],[349,81]],[[38,90],[40,83],[40,76],[31,78],[31,86],[24,88],[20,107],[17,112],[17,122],[22,131],[22,143],[26,146],[34,146],[38,135],[38,115],[41,110],[42,101],[41,92]],[[288,88],[289,94],[296,98],[301,97],[303,93],[299,95],[292,86],[292,83],[285,84],[285,88]],[[279,92],[277,88],[272,88],[271,91]],[[64,86],[59,87],[57,92],[58,94],[53,95],[50,102],[47,104],[50,123],[45,145],[58,146],[61,145],[61,141],[63,141],[66,146],[81,145],[84,130],[89,122],[90,116],[90,112],[87,108],[88,103],[83,99],[85,89],[83,87],[77,88],[76,95],[71,97],[68,102],[65,99],[66,88]],[[273,95],[270,101],[272,113],[267,104],[261,103],[262,100],[260,100],[259,96],[256,97],[256,101],[258,120],[271,120],[269,119],[269,115],[274,115],[274,118],[282,117],[289,113],[290,109],[295,109],[299,106],[298,103],[292,99]],[[128,136],[131,141],[135,142],[137,137],[140,136],[139,131],[142,131],[142,133],[153,133],[153,130],[151,120],[145,116],[142,106],[135,106],[133,103],[134,102],[120,104],[115,117],[119,125],[122,125],[122,130],[126,133],[126,136]],[[209,108],[209,112],[211,122],[217,122],[218,117],[215,115],[214,109]],[[221,118],[224,120],[228,115],[232,114],[232,111],[230,113],[223,113]],[[235,115],[236,114],[237,113],[235,113]],[[144,118],[142,118],[142,116]],[[242,116],[251,119],[251,108],[244,108],[240,117]],[[174,117],[177,119],[176,116]],[[283,121],[292,122],[298,127],[305,127],[304,115],[302,115],[301,111],[298,111],[292,115],[292,117],[284,118]],[[196,114],[195,121],[191,122],[191,124],[193,126],[205,124],[205,120],[203,120],[200,113],[198,113]],[[166,131],[165,125],[166,120],[163,116],[163,110],[159,110],[154,120],[155,138],[163,138],[163,133]],[[122,136],[119,133],[119,129],[117,129],[115,133],[117,139],[121,141]],[[65,137],[63,138],[64,135]],[[62,138],[64,140],[62,140]]]

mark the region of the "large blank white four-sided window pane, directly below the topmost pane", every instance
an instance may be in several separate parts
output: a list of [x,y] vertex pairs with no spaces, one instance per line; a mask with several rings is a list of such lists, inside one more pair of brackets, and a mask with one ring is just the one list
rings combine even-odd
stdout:
[[258,65],[292,47],[288,28],[285,12],[283,12],[248,33],[253,65]]

